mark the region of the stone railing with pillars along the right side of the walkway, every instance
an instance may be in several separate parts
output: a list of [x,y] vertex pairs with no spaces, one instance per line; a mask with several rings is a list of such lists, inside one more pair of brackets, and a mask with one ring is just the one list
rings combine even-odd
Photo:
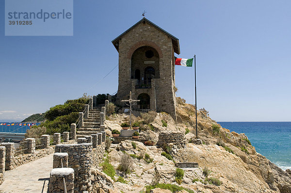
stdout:
[[49,193],[64,192],[65,188],[68,193],[90,192],[91,168],[98,166],[102,161],[105,137],[105,131],[101,131],[78,138],[78,144],[56,145],[53,156],[54,169],[50,172]]

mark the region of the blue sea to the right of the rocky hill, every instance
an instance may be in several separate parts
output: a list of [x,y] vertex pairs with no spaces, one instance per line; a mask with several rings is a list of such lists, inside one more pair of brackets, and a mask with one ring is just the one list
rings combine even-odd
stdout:
[[245,133],[256,151],[281,169],[291,169],[291,122],[217,122]]

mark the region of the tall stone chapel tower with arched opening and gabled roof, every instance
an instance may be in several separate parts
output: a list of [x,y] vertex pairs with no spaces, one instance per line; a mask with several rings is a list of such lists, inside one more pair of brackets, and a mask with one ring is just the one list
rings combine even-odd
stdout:
[[179,40],[145,17],[112,41],[119,52],[116,102],[140,99],[133,109],[166,112],[176,120],[175,57]]

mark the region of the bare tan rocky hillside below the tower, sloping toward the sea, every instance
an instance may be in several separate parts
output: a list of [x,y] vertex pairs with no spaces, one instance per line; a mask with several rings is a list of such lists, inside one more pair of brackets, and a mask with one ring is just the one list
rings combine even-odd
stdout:
[[[193,134],[193,105],[178,104],[177,123],[167,113],[157,113],[153,121],[146,123],[139,112],[133,112],[134,121],[142,123],[141,138],[158,141],[160,133],[176,131],[187,133],[185,145],[145,146],[136,142],[134,148],[131,141],[112,145],[108,161],[116,170],[113,177],[115,190],[149,193],[150,189],[160,187],[172,192],[184,189],[180,193],[291,193],[291,175],[257,153],[245,134],[229,132],[206,113],[197,113],[198,136],[202,140],[199,145],[196,145]],[[128,120],[127,114],[109,116],[105,122],[107,134],[111,135],[113,129],[120,130],[119,125]],[[177,178],[174,161],[162,156],[163,151],[167,151],[176,162],[197,162],[199,168],[184,169],[183,177]],[[120,171],[120,160],[126,154],[133,162],[127,174]],[[104,167],[103,172],[107,172]],[[167,191],[152,190],[153,193],[169,193]]]

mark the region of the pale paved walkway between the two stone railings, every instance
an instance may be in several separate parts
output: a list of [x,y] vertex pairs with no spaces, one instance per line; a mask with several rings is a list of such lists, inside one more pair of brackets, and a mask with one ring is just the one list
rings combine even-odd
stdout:
[[53,154],[5,171],[0,193],[47,193]]

